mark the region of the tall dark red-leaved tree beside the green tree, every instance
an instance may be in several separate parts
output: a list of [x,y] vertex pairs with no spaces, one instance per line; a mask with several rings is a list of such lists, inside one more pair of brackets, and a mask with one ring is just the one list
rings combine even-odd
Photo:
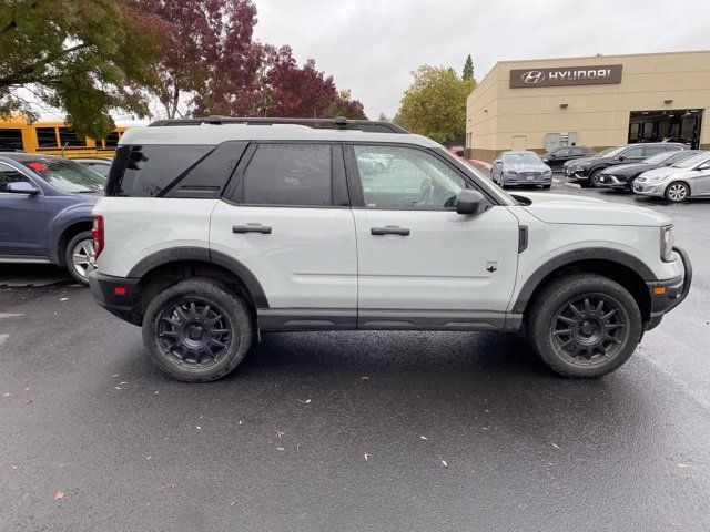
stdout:
[[229,103],[235,114],[253,109],[262,50],[252,42],[256,8],[251,0],[132,1],[171,24],[153,64],[159,83],[152,91],[169,119],[182,114],[181,104],[212,110]]

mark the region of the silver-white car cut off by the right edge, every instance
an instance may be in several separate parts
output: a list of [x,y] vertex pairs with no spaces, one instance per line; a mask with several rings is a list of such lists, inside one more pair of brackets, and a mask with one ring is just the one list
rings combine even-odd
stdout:
[[672,166],[645,172],[633,183],[633,192],[665,197],[673,203],[690,197],[709,197],[710,153],[701,152]]

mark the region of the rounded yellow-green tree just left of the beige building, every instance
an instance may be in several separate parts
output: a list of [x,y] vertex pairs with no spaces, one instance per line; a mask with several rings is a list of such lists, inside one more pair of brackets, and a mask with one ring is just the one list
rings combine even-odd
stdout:
[[460,144],[466,136],[466,99],[476,86],[452,69],[419,66],[402,96],[394,122],[442,144]]

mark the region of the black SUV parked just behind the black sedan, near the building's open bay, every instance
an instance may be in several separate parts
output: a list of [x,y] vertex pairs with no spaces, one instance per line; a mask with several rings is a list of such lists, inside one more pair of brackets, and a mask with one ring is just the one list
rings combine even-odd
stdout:
[[565,163],[565,175],[572,183],[582,186],[599,186],[599,173],[604,168],[622,163],[638,163],[661,152],[687,150],[684,144],[671,142],[655,142],[648,144],[626,144],[609,147],[587,158],[578,158]]

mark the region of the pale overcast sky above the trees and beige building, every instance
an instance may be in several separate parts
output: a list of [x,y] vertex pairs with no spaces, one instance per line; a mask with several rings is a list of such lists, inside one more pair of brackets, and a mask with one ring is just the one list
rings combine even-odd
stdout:
[[709,0],[253,0],[255,38],[315,59],[371,119],[392,117],[409,73],[468,53],[497,61],[710,49]]

